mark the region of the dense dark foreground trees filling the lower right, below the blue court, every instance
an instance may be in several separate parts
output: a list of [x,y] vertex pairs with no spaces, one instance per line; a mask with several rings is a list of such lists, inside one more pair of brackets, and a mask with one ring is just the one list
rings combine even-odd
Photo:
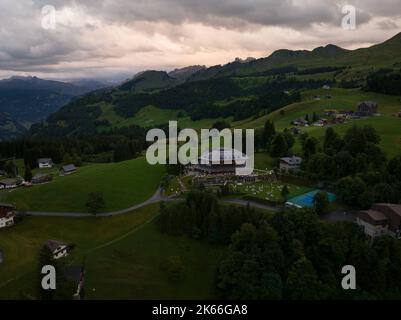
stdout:
[[[160,231],[229,244],[216,286],[225,299],[383,299],[401,294],[401,243],[371,242],[358,226],[324,223],[313,210],[275,214],[219,203],[195,190],[186,201],[161,206]],[[353,265],[357,290],[341,287]]]

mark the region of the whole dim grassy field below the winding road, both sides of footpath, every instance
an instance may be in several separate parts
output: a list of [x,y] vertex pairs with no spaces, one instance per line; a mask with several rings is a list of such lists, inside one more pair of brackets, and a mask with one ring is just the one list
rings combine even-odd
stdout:
[[[68,259],[85,266],[89,299],[215,297],[214,275],[223,248],[160,234],[153,222],[158,208],[155,204],[109,218],[29,217],[1,230],[0,299],[36,297],[38,252],[49,239],[76,245]],[[160,268],[171,256],[181,257],[186,270],[177,283]]]

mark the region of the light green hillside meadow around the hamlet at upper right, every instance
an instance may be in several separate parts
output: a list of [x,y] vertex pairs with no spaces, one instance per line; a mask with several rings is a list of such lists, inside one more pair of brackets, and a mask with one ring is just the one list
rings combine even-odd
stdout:
[[[314,101],[313,96],[320,95],[322,100]],[[331,95],[332,99],[325,99],[326,95]],[[311,90],[305,91],[303,101],[284,107],[284,114],[280,114],[280,110],[273,112],[267,116],[243,122],[239,124],[242,128],[261,128],[266,119],[274,121],[276,128],[282,130],[291,127],[290,122],[309,114],[311,117],[313,112],[324,117],[326,109],[350,109],[356,110],[358,102],[364,100],[373,100],[379,103],[380,117],[372,117],[367,119],[352,120],[347,124],[335,125],[334,128],[339,133],[344,133],[348,128],[355,125],[371,125],[375,127],[382,137],[382,147],[390,155],[394,156],[401,152],[401,118],[393,116],[395,112],[401,110],[400,97],[376,94],[371,92],[363,92],[361,90]],[[303,128],[312,136],[321,139],[324,136],[325,128]]]

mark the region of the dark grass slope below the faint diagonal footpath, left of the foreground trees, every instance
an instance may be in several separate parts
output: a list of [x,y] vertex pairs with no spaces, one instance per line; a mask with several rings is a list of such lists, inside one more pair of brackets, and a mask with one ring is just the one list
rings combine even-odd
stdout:
[[[162,235],[152,223],[87,257],[87,298],[212,299],[223,253],[223,247]],[[183,280],[177,282],[162,268],[172,256],[180,257],[185,268]]]

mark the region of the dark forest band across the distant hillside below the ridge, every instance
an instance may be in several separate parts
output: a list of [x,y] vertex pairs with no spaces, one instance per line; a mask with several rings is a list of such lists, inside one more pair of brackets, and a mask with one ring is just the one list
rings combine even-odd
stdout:
[[[116,101],[116,112],[123,117],[132,117],[141,108],[153,105],[161,109],[183,109],[193,120],[229,116],[242,120],[262,109],[271,112],[300,100],[299,93],[285,93],[286,90],[314,89],[324,84],[327,81],[293,78],[277,78],[249,88],[241,87],[234,78],[190,82],[153,94],[122,96]],[[218,102],[222,101],[228,103],[221,106]]]

